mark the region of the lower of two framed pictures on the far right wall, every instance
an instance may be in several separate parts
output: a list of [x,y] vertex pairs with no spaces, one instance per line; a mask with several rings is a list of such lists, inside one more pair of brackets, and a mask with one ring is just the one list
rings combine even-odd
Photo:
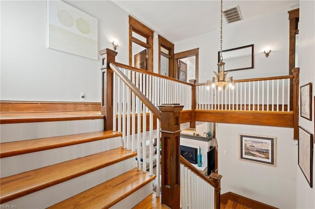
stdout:
[[298,164],[311,188],[313,188],[313,137],[313,134],[299,126]]

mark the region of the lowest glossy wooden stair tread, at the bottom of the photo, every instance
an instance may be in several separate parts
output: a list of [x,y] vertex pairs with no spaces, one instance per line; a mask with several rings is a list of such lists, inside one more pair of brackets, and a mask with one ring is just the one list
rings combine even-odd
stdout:
[[132,169],[120,176],[66,199],[48,209],[104,209],[109,208],[128,195],[155,179],[141,170]]

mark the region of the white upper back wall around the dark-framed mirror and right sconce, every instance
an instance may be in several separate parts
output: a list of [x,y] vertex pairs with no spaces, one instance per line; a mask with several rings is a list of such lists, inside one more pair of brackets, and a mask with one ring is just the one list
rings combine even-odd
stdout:
[[[288,14],[284,7],[266,16],[223,24],[223,50],[254,44],[254,68],[229,72],[234,79],[288,75]],[[206,27],[206,26],[205,26]],[[266,58],[264,48],[272,52]],[[175,43],[175,53],[199,47],[199,81],[204,83],[218,70],[220,23],[218,30]],[[280,61],[281,60],[281,61]],[[224,61],[224,58],[223,58]]]

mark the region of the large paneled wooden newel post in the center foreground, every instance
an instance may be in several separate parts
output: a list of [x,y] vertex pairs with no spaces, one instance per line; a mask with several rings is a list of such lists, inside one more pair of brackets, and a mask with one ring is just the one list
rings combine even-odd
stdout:
[[171,209],[180,208],[180,112],[183,105],[163,104],[162,113],[162,204]]

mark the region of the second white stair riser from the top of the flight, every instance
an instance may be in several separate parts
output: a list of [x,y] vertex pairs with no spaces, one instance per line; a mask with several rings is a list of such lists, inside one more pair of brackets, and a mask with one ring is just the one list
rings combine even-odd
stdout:
[[[1,178],[121,147],[121,137],[1,158]],[[134,159],[134,158],[133,158]],[[133,161],[134,162],[134,161]],[[133,163],[134,165],[134,163]]]

